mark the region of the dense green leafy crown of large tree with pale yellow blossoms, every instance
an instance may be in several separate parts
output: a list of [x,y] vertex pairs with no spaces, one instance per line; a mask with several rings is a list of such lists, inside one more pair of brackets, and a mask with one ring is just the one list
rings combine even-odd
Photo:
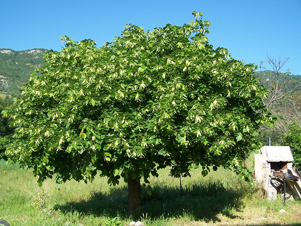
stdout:
[[126,24],[101,48],[62,37],[64,49],[46,52],[4,114],[16,127],[10,159],[33,168],[40,184],[56,173],[57,187],[97,171],[112,184],[147,182],[166,166],[174,175],[198,165],[206,175],[213,165],[248,176],[243,158],[260,148],[259,126],[275,121],[266,89],[253,64],[209,45],[210,22],[193,15],[153,31]]

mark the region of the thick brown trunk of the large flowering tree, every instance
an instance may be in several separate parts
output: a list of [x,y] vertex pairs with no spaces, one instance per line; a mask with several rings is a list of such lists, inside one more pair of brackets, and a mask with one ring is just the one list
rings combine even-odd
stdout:
[[128,215],[132,215],[134,217],[139,217],[140,215],[140,206],[141,206],[141,198],[140,198],[140,180],[129,178],[128,182],[129,189],[129,209]]

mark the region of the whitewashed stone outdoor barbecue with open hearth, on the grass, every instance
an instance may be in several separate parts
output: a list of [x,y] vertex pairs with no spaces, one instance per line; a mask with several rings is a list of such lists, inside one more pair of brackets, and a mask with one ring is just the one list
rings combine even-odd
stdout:
[[287,168],[292,168],[293,155],[289,146],[263,146],[261,152],[255,154],[255,181],[262,184],[268,200],[275,200],[281,180],[271,176],[273,171],[282,170],[286,173]]

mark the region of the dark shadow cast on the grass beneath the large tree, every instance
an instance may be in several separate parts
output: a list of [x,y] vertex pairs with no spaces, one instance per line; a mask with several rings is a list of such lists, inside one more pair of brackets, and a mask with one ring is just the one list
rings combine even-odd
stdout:
[[[245,192],[246,189],[234,191],[226,189],[220,182],[211,181],[183,187],[181,197],[177,187],[155,185],[151,188],[151,196],[141,188],[141,217],[149,220],[184,217],[196,221],[219,221],[217,215],[222,213],[235,218],[232,213],[244,207],[240,198]],[[96,191],[88,200],[67,202],[54,206],[54,209],[65,213],[77,211],[84,215],[126,219],[127,202],[127,187],[113,187],[107,194]]]

